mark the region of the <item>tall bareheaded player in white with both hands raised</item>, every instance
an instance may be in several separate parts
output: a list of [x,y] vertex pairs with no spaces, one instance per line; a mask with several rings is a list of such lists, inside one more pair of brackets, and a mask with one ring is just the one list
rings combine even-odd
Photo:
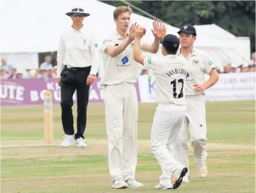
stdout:
[[[121,6],[113,13],[116,30],[103,42],[104,73],[100,85],[104,86],[107,137],[109,140],[109,171],[112,187],[116,189],[142,187],[135,180],[137,165],[138,101],[134,83],[137,82],[138,64],[133,59],[134,29],[132,10]],[[159,22],[153,23],[155,41],[141,43],[145,52],[159,49]]]

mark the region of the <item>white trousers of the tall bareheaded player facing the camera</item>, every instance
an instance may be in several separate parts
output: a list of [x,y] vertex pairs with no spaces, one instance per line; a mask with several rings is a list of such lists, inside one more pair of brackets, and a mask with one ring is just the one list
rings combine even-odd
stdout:
[[133,83],[104,87],[109,171],[112,180],[135,177],[138,101]]

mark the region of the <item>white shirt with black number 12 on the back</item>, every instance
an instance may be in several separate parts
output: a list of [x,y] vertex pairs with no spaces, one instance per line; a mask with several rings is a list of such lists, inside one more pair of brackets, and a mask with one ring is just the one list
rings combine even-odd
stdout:
[[183,89],[186,80],[186,59],[182,56],[167,55],[144,59],[144,67],[152,69],[156,83],[158,104],[185,105]]

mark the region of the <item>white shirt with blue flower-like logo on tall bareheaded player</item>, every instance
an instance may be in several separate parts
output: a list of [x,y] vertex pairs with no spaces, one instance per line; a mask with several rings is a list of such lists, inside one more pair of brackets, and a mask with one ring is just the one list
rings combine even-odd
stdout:
[[[133,59],[134,41],[120,55],[112,58],[106,53],[106,47],[110,44],[118,46],[124,43],[125,39],[121,37],[118,31],[112,32],[103,41],[103,61],[104,72],[101,77],[100,85],[116,85],[122,82],[135,83],[138,76],[138,63]],[[141,40],[141,47],[143,40]]]

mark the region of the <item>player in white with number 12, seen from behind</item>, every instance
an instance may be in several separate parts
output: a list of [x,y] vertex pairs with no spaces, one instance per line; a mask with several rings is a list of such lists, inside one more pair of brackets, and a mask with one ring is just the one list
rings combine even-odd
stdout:
[[[166,34],[166,29],[163,29]],[[162,44],[162,55],[147,58],[141,55],[140,39],[143,30],[136,29],[134,43],[134,60],[153,70],[156,77],[156,108],[151,132],[151,150],[162,168],[160,182],[156,189],[177,189],[188,168],[173,158],[173,146],[185,118],[186,60],[177,56],[180,41],[175,35],[166,35]],[[171,176],[177,176],[173,185]]]

